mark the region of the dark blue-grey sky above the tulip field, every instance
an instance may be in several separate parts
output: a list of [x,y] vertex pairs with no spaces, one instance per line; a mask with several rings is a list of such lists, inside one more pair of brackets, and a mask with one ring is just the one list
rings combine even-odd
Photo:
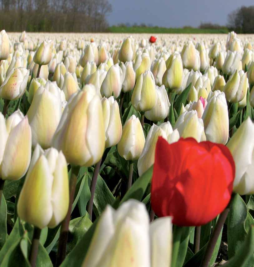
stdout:
[[253,0],[108,0],[110,26],[118,23],[145,23],[159,27],[198,27],[201,22],[226,25],[227,15]]

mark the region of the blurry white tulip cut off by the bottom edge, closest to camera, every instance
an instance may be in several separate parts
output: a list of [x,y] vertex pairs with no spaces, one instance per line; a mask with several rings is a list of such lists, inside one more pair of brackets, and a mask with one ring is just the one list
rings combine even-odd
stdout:
[[156,219],[149,228],[145,205],[137,200],[130,199],[117,210],[108,205],[95,233],[83,267],[170,266],[172,218]]

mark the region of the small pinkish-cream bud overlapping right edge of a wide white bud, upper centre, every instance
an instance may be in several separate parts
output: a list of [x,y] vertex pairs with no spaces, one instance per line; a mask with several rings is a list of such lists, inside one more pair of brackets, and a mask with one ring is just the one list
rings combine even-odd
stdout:
[[123,84],[122,84],[122,88],[123,88],[123,92],[129,92],[134,88],[135,85],[135,72],[133,69],[133,65],[131,61],[127,61],[125,62],[125,64],[121,63],[120,67],[122,69],[123,72]]

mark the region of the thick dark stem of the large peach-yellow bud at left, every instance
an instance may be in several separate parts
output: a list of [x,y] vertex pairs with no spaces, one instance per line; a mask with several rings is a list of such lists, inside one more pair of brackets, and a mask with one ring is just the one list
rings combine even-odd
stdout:
[[58,241],[58,250],[56,256],[56,266],[59,266],[62,263],[66,255],[66,245],[68,240],[69,224],[71,219],[71,208],[74,200],[78,173],[79,173],[79,167],[71,166],[71,179],[69,184],[70,188],[69,208],[66,217],[64,218],[61,224],[61,232]]

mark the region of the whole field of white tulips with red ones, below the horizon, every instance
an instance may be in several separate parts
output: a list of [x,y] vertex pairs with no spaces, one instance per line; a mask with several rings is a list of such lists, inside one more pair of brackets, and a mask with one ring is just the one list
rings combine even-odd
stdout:
[[0,32],[0,267],[254,266],[254,35]]

